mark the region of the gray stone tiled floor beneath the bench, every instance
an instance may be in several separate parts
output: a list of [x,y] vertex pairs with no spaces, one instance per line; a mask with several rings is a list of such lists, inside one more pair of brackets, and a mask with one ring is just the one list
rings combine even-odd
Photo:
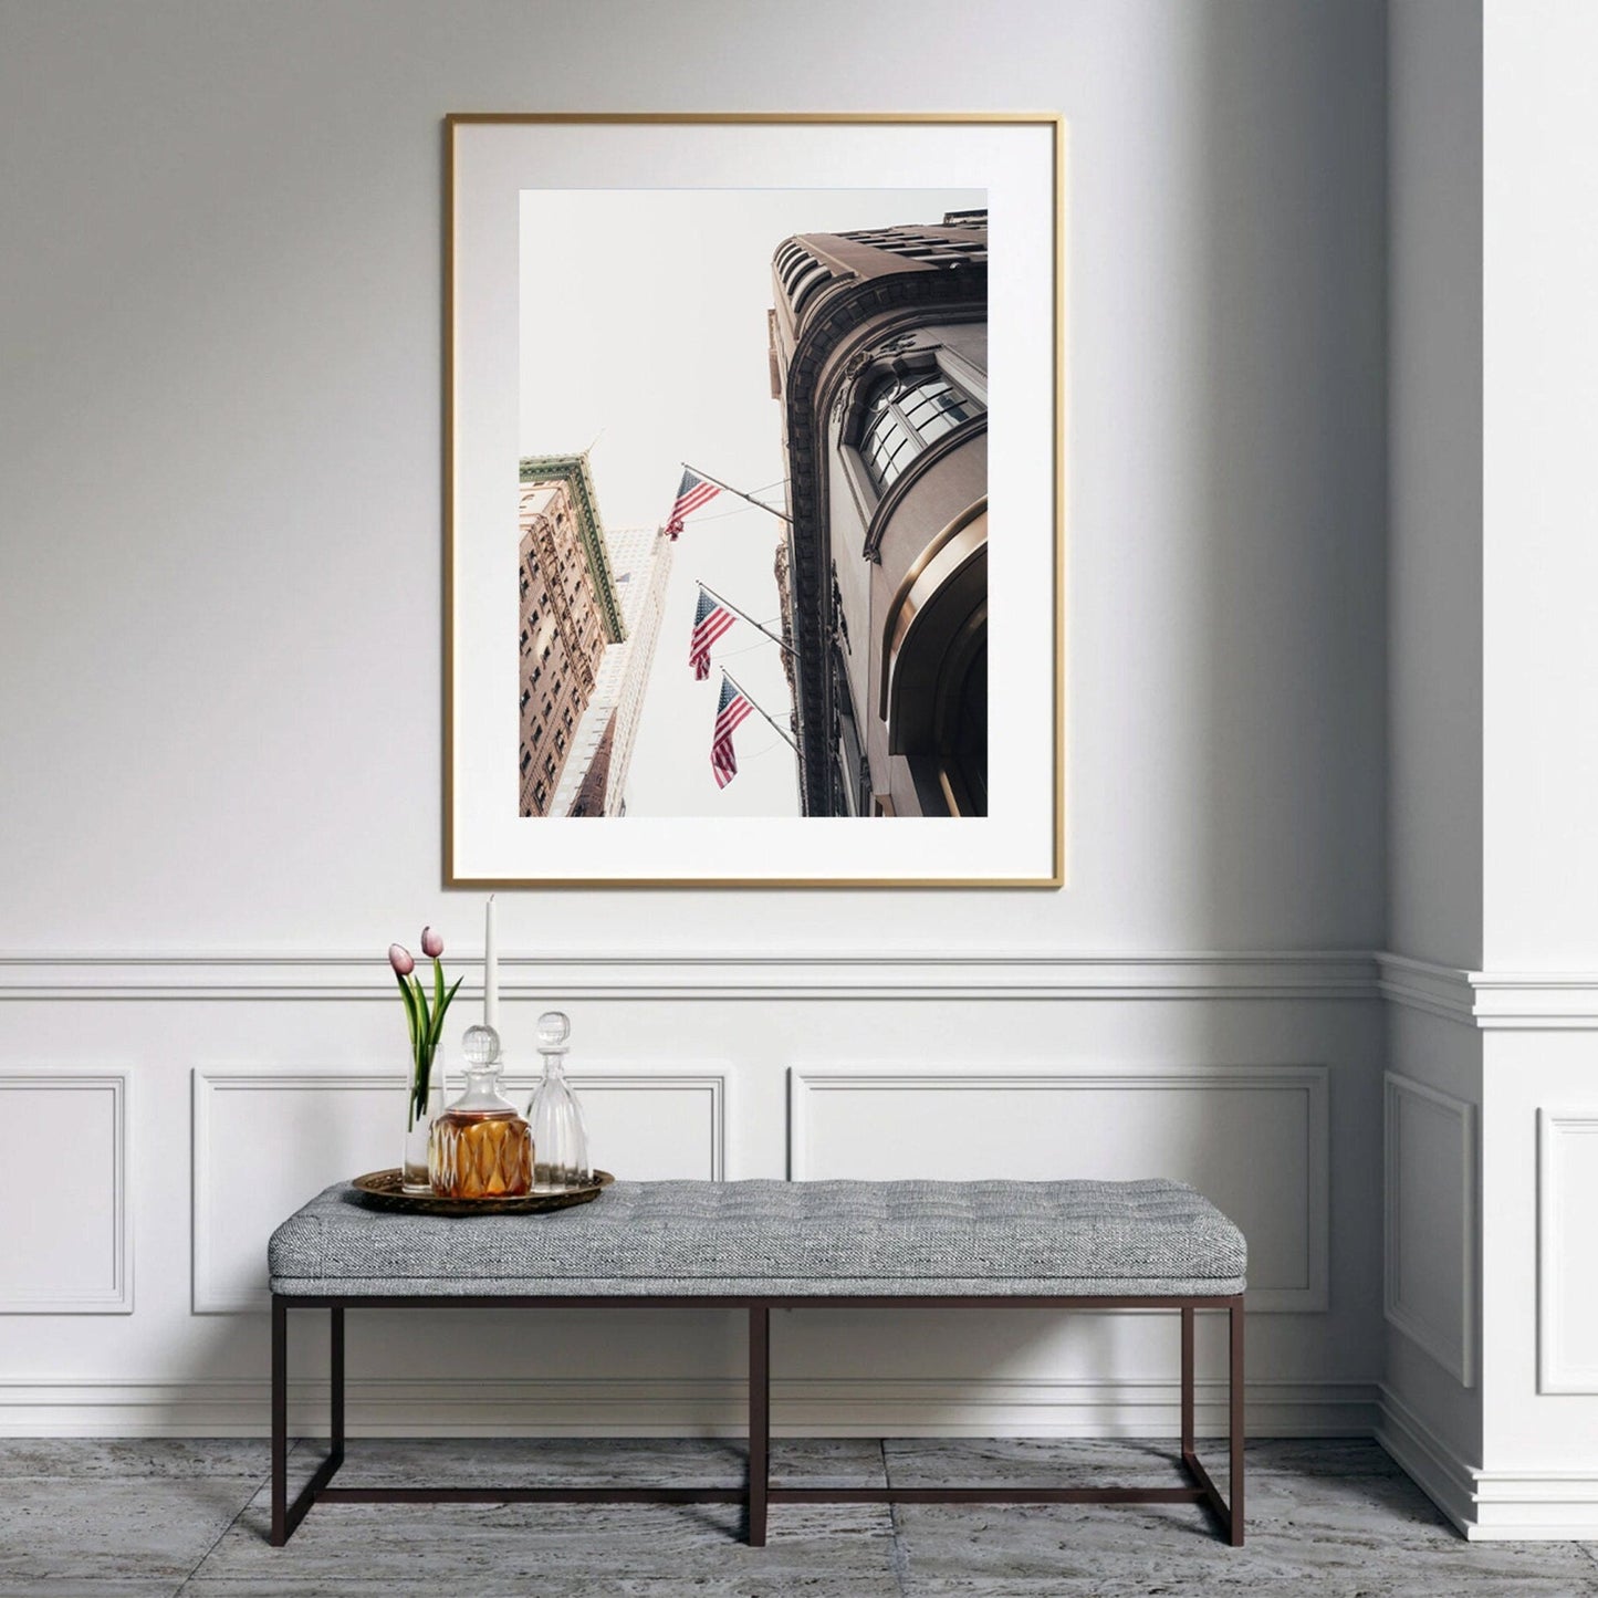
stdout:
[[[291,1478],[318,1457],[296,1446]],[[1374,1443],[1262,1441],[1248,1467],[1243,1548],[1187,1505],[775,1505],[749,1548],[737,1507],[630,1504],[321,1505],[272,1548],[264,1441],[0,1440],[0,1598],[1598,1598],[1598,1544],[1467,1544]],[[1162,1445],[1111,1441],[780,1440],[773,1473],[1176,1480]],[[358,1438],[339,1481],[741,1478],[730,1441]]]

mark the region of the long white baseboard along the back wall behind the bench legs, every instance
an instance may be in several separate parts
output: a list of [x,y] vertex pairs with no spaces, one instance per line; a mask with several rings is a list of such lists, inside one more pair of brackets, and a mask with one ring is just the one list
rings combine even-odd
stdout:
[[[1369,1382],[1250,1382],[1253,1437],[1368,1437]],[[740,1437],[737,1377],[352,1381],[352,1435]],[[1197,1425],[1226,1435],[1226,1384],[1200,1381]],[[289,1427],[320,1435],[328,1384],[289,1384]],[[777,1379],[778,1437],[1173,1437],[1170,1381]],[[238,1382],[0,1382],[0,1437],[265,1437],[268,1387]]]

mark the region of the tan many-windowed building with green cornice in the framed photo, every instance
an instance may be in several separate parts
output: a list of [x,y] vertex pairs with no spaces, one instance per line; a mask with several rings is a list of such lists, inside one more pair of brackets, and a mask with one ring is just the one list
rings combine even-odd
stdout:
[[521,815],[556,794],[606,649],[626,638],[586,455],[519,463]]

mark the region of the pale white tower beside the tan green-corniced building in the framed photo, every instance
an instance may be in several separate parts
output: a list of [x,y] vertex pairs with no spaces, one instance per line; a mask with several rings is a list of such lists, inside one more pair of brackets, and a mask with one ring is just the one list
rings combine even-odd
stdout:
[[626,813],[626,773],[676,545],[658,527],[622,527],[604,540],[626,636],[610,644],[599,662],[593,698],[577,724],[574,753],[551,815]]

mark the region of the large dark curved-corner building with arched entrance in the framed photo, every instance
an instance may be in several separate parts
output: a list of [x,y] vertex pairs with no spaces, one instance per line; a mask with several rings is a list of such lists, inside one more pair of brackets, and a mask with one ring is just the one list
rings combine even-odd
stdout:
[[772,393],[805,815],[988,813],[988,214],[785,240]]

